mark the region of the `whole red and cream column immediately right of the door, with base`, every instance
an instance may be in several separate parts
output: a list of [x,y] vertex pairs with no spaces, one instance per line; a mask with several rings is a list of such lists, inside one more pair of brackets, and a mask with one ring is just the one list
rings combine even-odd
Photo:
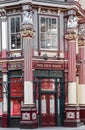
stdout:
[[64,125],[76,127],[80,125],[80,108],[77,106],[76,88],[76,17],[69,16],[67,27],[65,38],[68,41],[68,104],[65,106],[66,119]]

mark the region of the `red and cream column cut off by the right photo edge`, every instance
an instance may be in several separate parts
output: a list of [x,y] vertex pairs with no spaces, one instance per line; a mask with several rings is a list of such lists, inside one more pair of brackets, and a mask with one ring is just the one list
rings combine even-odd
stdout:
[[85,17],[79,20],[79,105],[80,119],[85,123]]

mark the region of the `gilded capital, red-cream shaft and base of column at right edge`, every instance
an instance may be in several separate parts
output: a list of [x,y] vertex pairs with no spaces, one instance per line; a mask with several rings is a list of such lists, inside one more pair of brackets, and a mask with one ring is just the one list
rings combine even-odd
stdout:
[[79,105],[80,119],[85,123],[85,40],[79,39],[79,58],[81,60],[79,67]]

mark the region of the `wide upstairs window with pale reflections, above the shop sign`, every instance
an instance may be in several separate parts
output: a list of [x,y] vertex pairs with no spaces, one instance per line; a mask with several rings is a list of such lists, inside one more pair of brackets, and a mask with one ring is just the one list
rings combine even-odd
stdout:
[[58,18],[40,16],[40,48],[58,50]]

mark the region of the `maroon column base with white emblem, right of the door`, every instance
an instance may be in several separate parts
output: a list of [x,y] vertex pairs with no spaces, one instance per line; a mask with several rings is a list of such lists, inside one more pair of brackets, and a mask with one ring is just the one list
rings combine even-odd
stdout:
[[78,127],[81,125],[79,106],[66,106],[65,114],[66,114],[66,119],[64,120],[65,127]]

